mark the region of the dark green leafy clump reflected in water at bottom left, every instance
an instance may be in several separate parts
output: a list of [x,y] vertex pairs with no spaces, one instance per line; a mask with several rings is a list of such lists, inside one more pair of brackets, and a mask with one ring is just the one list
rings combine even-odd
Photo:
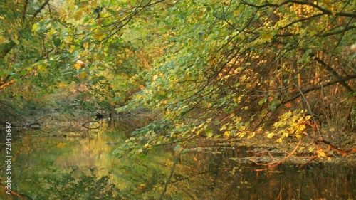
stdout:
[[[90,169],[93,172],[93,169]],[[110,184],[109,177],[88,176],[81,172],[80,176],[66,174],[61,179],[51,179],[46,196],[41,199],[113,199],[115,185]]]

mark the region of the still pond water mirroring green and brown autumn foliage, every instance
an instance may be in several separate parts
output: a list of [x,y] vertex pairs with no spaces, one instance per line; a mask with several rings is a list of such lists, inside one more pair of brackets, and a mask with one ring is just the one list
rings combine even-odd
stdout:
[[[245,147],[191,149],[177,160],[162,147],[119,159],[112,151],[125,134],[105,128],[83,134],[17,137],[11,191],[31,199],[355,199],[355,163],[283,164],[256,172],[256,164],[244,159]],[[20,199],[0,191],[0,199]]]

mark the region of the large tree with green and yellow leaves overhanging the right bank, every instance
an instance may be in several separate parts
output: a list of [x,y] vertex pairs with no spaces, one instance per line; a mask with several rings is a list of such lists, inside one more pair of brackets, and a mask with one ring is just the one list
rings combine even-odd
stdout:
[[177,1],[157,19],[172,28],[165,55],[127,106],[162,108],[162,120],[136,134],[148,146],[189,147],[197,137],[255,135],[325,143],[328,130],[355,129],[354,6]]

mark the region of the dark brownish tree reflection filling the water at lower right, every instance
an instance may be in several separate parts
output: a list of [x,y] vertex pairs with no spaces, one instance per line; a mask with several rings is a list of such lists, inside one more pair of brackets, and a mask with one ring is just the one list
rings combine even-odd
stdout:
[[[246,150],[246,149],[245,149]],[[185,154],[183,167],[170,184],[187,199],[352,199],[355,167],[338,164],[282,164],[273,171],[256,172],[239,150],[220,154]],[[239,155],[238,159],[233,159]],[[236,157],[235,157],[236,158]],[[189,195],[188,195],[189,194]]]

